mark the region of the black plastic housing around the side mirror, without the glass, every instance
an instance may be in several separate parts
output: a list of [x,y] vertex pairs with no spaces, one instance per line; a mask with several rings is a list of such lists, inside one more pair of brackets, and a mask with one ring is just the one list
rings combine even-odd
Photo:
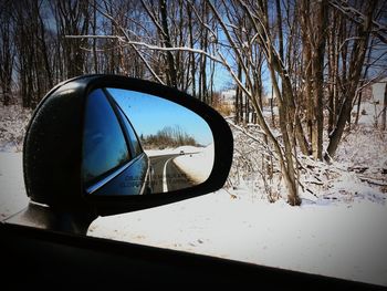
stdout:
[[[140,196],[86,195],[82,179],[85,104],[97,89],[122,89],[150,94],[179,104],[200,116],[213,136],[212,170],[202,184],[168,193]],[[103,116],[101,116],[103,118]],[[117,75],[85,75],[65,81],[41,101],[24,137],[23,170],[28,196],[59,212],[106,216],[170,204],[221,188],[233,152],[230,127],[207,104],[178,90]]]

